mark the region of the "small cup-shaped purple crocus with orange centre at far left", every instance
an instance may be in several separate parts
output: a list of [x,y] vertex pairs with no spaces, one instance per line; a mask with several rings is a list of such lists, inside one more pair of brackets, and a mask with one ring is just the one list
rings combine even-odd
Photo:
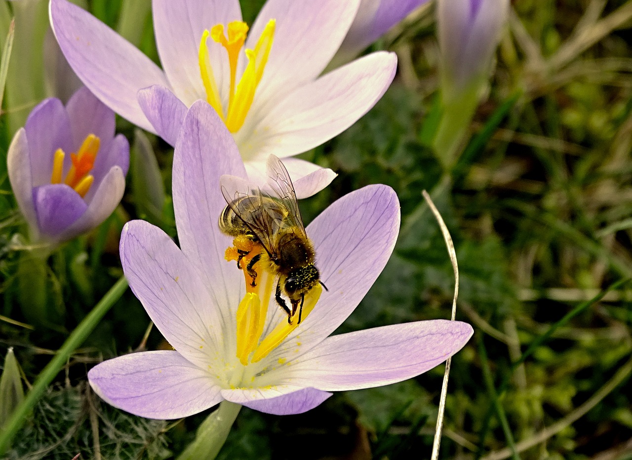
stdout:
[[114,112],[87,88],[66,107],[37,105],[8,152],[11,187],[32,242],[69,240],[111,215],[125,191],[130,146]]

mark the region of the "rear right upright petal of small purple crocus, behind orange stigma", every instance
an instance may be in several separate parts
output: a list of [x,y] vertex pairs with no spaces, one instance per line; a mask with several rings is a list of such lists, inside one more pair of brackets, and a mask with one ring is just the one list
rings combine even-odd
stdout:
[[73,133],[73,151],[78,150],[88,134],[97,136],[101,146],[109,143],[114,137],[114,112],[85,86],[70,98],[66,110]]

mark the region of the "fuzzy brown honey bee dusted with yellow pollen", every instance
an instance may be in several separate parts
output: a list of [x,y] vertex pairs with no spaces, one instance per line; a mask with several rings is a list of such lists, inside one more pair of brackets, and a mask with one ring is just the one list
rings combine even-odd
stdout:
[[[219,228],[226,235],[246,237],[255,248],[263,248],[246,266],[251,285],[257,283],[257,263],[278,276],[277,304],[288,314],[288,324],[292,324],[298,309],[300,324],[305,295],[319,283],[325,290],[327,286],[320,281],[313,245],[305,232],[288,170],[274,155],[269,156],[266,166],[269,179],[263,191],[239,177],[222,175],[220,185],[228,205],[219,216]],[[241,259],[250,252],[238,249],[238,253],[237,266],[241,269]],[[291,309],[282,294],[289,298]]]

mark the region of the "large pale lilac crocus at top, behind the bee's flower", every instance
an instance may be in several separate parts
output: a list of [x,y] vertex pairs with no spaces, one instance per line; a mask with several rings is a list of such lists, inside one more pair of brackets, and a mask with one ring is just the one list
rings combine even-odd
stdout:
[[335,174],[289,157],[351,126],[396,71],[396,56],[377,52],[320,76],[359,4],[268,0],[248,28],[238,0],[154,0],[162,69],[67,0],[51,0],[51,23],[75,73],[118,114],[174,145],[187,107],[206,100],[231,131],[251,179],[262,179],[274,153],[304,197]]

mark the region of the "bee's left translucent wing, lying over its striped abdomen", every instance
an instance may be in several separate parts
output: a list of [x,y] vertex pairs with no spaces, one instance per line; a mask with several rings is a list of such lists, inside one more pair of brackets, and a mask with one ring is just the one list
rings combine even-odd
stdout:
[[274,234],[283,225],[286,213],[280,206],[261,192],[259,187],[241,177],[224,174],[219,185],[226,203],[253,234],[269,254],[274,254]]

